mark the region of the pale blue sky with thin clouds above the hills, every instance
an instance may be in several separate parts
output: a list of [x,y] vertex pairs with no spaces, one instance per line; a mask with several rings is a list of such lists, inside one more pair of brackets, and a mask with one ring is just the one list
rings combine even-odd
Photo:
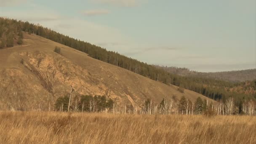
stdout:
[[0,0],[0,16],[148,64],[256,68],[256,0]]

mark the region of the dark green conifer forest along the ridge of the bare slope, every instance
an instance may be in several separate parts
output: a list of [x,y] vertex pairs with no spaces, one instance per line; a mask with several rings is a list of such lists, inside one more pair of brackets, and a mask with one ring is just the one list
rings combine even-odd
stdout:
[[88,42],[60,34],[51,29],[42,27],[39,24],[30,24],[27,21],[24,22],[0,18],[0,47],[12,47],[15,43],[21,44],[21,31],[45,37],[57,43],[61,43],[79,51],[88,53],[89,56],[95,59],[128,69],[144,77],[165,83],[166,85],[173,84],[197,93],[201,93],[204,96],[210,97],[211,99],[222,99],[225,101],[225,99],[228,97],[233,96],[235,99],[237,99],[237,101],[242,101],[245,99],[253,99],[253,95],[255,94],[255,91],[250,94],[227,91],[227,89],[232,88],[234,84],[221,80],[200,77],[181,77],[179,75],[174,75],[167,72],[165,69],[157,68],[136,59],[131,59],[115,51],[107,51],[105,48],[101,48],[97,45],[92,45]]

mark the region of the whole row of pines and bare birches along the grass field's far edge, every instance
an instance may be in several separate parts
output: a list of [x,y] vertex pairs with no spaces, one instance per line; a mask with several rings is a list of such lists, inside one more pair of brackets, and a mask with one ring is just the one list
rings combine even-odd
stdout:
[[[69,96],[59,97],[54,104],[54,110],[67,112]],[[164,98],[160,104],[155,104],[151,99],[144,101],[142,107],[129,107],[126,103],[118,103],[106,96],[75,96],[72,99],[73,112],[105,112],[113,114],[139,114],[139,115],[255,115],[256,101],[245,101],[242,109],[236,107],[233,98],[227,101],[208,101],[197,97],[190,100],[185,96],[177,99]]]

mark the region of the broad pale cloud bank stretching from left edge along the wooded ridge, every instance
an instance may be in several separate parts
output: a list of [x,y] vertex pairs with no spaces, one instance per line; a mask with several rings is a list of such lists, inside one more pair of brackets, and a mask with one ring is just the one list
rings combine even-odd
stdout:
[[[43,9],[27,10],[23,12],[4,11],[0,9],[0,16],[29,21],[43,25],[57,32],[87,41],[92,44],[98,43],[131,43],[130,38],[123,34],[120,29],[109,27],[95,22],[79,18],[69,18],[59,15],[55,11]],[[105,45],[109,49],[120,50],[120,45]]]

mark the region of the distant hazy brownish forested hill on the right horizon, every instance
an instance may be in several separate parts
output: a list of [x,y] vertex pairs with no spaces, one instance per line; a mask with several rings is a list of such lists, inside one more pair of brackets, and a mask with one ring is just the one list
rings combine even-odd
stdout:
[[171,74],[187,77],[213,78],[230,82],[245,82],[247,80],[256,80],[256,69],[246,69],[228,72],[196,72],[187,68],[179,67],[164,67],[159,65],[155,65],[155,67],[165,69]]

